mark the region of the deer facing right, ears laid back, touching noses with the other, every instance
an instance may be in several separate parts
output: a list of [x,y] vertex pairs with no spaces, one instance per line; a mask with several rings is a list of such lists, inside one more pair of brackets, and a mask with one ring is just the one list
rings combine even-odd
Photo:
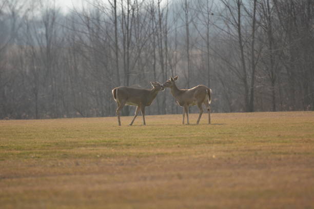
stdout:
[[117,103],[116,115],[119,126],[121,126],[120,111],[125,105],[136,106],[135,115],[129,124],[132,126],[136,116],[140,110],[143,116],[143,124],[145,122],[145,107],[150,106],[158,92],[163,91],[164,87],[159,82],[150,82],[152,89],[138,89],[132,87],[117,87],[112,90],[114,101]]

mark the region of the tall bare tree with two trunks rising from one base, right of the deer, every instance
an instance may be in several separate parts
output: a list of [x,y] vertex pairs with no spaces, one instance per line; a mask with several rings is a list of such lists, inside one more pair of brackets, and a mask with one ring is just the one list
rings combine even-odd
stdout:
[[[221,0],[225,7],[225,15],[223,16],[223,21],[227,24],[227,33],[230,37],[234,38],[238,42],[239,47],[239,59],[240,59],[240,69],[237,70],[237,75],[243,84],[243,95],[244,95],[244,108],[245,111],[253,111],[253,98],[254,98],[254,79],[256,74],[256,65],[258,60],[255,59],[254,51],[255,49],[255,33],[256,33],[256,4],[257,1],[253,2],[252,13],[250,13],[249,8],[244,5],[242,0],[225,1]],[[248,14],[248,19],[244,18],[244,12]],[[247,25],[251,22],[251,30],[243,31],[247,29]],[[225,30],[225,28],[222,28]],[[246,36],[245,36],[245,35]],[[250,38],[247,37],[249,34]],[[251,42],[248,42],[251,39]],[[248,47],[250,46],[250,47]],[[248,53],[248,50],[250,53]],[[246,54],[250,54],[249,58]],[[249,63],[249,65],[248,65]],[[250,69],[248,69],[248,66]],[[234,66],[234,68],[237,68]],[[251,79],[251,82],[249,80]],[[250,83],[250,84],[249,84]]]

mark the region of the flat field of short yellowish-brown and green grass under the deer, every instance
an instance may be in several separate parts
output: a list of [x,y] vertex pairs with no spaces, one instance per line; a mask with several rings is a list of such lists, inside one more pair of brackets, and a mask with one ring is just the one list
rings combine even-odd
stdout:
[[211,116],[0,120],[0,207],[314,208],[314,112]]

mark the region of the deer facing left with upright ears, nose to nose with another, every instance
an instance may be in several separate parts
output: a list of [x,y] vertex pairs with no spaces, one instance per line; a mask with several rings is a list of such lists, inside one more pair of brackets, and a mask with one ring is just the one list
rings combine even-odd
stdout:
[[172,96],[176,99],[176,103],[178,103],[179,106],[183,107],[183,120],[182,124],[184,124],[184,116],[186,114],[187,117],[187,124],[189,123],[189,106],[195,106],[197,105],[200,109],[200,115],[197,121],[197,124],[199,124],[201,116],[203,114],[203,107],[204,104],[208,111],[208,124],[210,124],[210,103],[211,103],[211,89],[204,85],[198,85],[196,87],[193,87],[191,89],[179,89],[175,85],[175,81],[178,80],[178,75],[172,78],[170,76],[170,79],[167,80],[164,84],[164,88],[170,88]]

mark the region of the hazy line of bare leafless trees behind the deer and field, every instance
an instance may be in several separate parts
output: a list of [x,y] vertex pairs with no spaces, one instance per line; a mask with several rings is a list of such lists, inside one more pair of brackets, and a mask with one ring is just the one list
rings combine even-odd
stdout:
[[[213,112],[314,110],[313,9],[311,0],[86,0],[62,12],[0,0],[0,118],[113,116],[111,89],[170,75],[180,88],[211,88]],[[147,108],[181,112],[167,90]]]

